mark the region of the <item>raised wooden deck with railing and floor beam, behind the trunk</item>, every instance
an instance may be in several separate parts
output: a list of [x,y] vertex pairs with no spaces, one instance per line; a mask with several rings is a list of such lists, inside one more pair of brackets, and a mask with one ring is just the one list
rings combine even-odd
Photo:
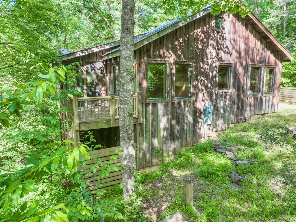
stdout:
[[[62,105],[67,108],[67,116],[73,122],[74,130],[91,130],[119,125],[119,98],[115,95],[78,98],[69,94]],[[134,122],[138,119],[139,98],[141,92],[133,95]]]

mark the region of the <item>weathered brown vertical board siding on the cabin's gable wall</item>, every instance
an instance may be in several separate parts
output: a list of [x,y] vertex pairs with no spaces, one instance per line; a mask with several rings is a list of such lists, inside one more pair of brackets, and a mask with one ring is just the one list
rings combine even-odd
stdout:
[[[142,92],[142,115],[135,128],[138,168],[160,164],[163,154],[175,155],[229,124],[277,111],[279,54],[241,16],[221,16],[223,31],[214,29],[215,16],[207,13],[135,50],[135,90]],[[154,61],[168,64],[165,100],[147,100],[147,63]],[[174,99],[174,63],[178,61],[192,64],[190,99]],[[118,57],[108,59],[107,70],[118,62]],[[230,90],[216,89],[219,64],[231,66]],[[255,96],[248,95],[251,66],[261,67],[260,93]],[[276,70],[272,94],[264,94],[267,67]],[[213,124],[199,126],[206,104],[213,104]]]

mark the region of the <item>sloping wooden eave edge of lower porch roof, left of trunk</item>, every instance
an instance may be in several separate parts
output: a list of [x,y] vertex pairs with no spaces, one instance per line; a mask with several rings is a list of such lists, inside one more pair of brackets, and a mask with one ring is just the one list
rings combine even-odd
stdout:
[[64,61],[64,60],[72,59],[72,58],[75,58],[75,57],[78,57],[78,56],[87,55],[87,54],[92,53],[92,52],[98,52],[98,51],[101,51],[101,50],[104,50],[104,49],[109,49],[109,48],[112,48],[112,47],[116,47],[116,46],[119,46],[119,45],[120,45],[120,40],[116,40],[116,41],[104,43],[104,44],[101,44],[101,45],[97,45],[97,46],[94,46],[94,47],[90,47],[90,48],[87,48],[87,49],[78,50],[76,52],[70,52],[70,53],[65,54],[65,55],[60,55],[59,58],[60,58],[60,61]]

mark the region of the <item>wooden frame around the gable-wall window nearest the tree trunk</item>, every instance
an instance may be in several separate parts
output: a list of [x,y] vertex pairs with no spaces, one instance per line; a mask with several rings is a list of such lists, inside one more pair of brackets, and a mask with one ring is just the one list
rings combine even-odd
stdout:
[[[165,65],[165,74],[164,74],[164,96],[165,98],[148,98],[148,65],[154,64],[154,65]],[[152,102],[163,102],[163,101],[169,101],[168,96],[168,74],[170,73],[169,70],[169,60],[153,60],[153,59],[146,59],[145,60],[145,74],[146,74],[146,102],[152,103]]]

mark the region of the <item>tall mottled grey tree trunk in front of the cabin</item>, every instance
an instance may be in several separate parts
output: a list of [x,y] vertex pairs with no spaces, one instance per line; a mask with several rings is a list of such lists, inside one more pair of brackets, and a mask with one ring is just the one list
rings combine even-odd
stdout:
[[133,134],[133,35],[135,25],[134,0],[122,0],[120,36],[120,146],[123,147],[121,162],[123,198],[128,199],[133,191],[136,158]]

